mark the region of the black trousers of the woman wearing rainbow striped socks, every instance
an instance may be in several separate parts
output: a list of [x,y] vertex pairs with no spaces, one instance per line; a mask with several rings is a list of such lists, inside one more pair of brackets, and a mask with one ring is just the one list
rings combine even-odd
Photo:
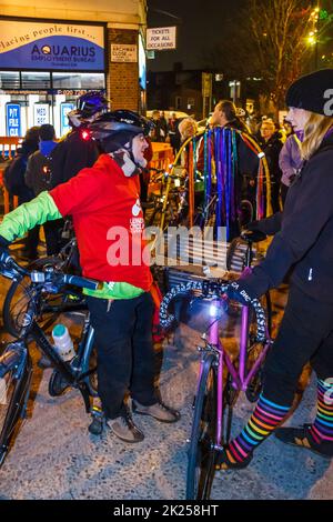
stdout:
[[333,378],[333,304],[319,302],[292,285],[276,340],[265,361],[264,396],[292,405],[307,362],[319,379]]

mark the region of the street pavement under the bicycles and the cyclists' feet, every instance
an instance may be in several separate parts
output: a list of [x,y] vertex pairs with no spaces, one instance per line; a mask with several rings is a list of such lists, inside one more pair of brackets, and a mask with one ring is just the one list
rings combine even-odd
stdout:
[[[8,282],[1,278],[0,284],[3,299]],[[285,298],[285,291],[275,293],[275,325]],[[65,321],[71,325],[78,317]],[[175,335],[157,348],[163,401],[179,409],[182,418],[175,424],[163,424],[135,415],[145,434],[139,444],[121,442],[109,430],[101,438],[90,435],[79,392],[51,398],[51,370],[36,367],[29,418],[0,470],[0,499],[184,500],[186,440],[200,360],[195,345],[208,323],[206,308],[194,304],[189,322],[181,323]],[[6,341],[8,335],[2,332],[1,339]],[[33,360],[38,360],[36,351]],[[244,398],[238,402],[235,434],[252,409]],[[287,424],[307,422],[314,414],[312,378]],[[248,469],[216,473],[212,500],[222,499],[333,499],[333,463],[272,436],[258,449]]]

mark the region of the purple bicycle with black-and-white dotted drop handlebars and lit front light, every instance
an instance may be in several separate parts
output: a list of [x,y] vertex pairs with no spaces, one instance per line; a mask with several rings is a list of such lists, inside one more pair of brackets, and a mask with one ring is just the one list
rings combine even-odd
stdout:
[[[252,244],[265,239],[262,233],[243,234],[248,242],[246,264],[251,264]],[[186,474],[186,499],[203,500],[210,498],[215,471],[215,459],[230,441],[232,412],[241,391],[250,402],[256,402],[262,389],[262,365],[268,354],[271,332],[266,313],[259,300],[251,307],[241,308],[241,334],[239,357],[233,362],[219,338],[219,321],[228,313],[230,300],[226,280],[195,281],[174,287],[164,297],[160,319],[163,328],[169,328],[174,317],[169,314],[171,301],[179,294],[188,295],[191,291],[201,292],[201,299],[209,299],[212,319],[204,334],[201,352],[200,373],[194,399],[193,423],[189,446]],[[199,299],[199,298],[196,298]],[[270,315],[270,298],[266,295],[266,310]],[[255,312],[253,315],[252,311]]]

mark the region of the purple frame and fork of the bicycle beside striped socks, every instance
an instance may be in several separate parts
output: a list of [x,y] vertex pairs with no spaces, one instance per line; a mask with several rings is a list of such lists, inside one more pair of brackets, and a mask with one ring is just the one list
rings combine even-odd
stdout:
[[[271,339],[269,335],[269,331],[266,328],[266,343],[264,345],[263,351],[260,353],[258,360],[246,374],[246,345],[248,345],[248,334],[249,334],[249,307],[242,307],[242,320],[241,320],[241,339],[240,339],[240,364],[239,369],[236,370],[229,357],[225,352],[220,338],[219,338],[219,321],[218,318],[220,317],[220,310],[222,308],[222,303],[220,299],[214,299],[211,302],[211,310],[215,310],[215,314],[212,317],[212,324],[209,329],[209,342],[210,344],[214,345],[219,351],[219,367],[218,367],[218,421],[216,421],[216,436],[215,436],[215,445],[216,448],[221,448],[222,444],[222,420],[223,420],[223,368],[224,363],[231,374],[232,378],[232,387],[239,391],[245,391],[249,382],[255,375],[258,369],[261,365],[262,360],[264,359],[268,349],[271,344]],[[201,373],[201,371],[200,371]]]

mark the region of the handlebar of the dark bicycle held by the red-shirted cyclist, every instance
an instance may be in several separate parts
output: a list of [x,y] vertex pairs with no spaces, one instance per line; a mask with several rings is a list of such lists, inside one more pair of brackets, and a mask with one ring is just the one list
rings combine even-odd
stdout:
[[29,271],[20,267],[11,255],[7,252],[0,253],[0,274],[9,279],[14,279],[18,275],[28,275],[33,283],[53,283],[57,287],[64,284],[72,284],[88,290],[99,290],[103,283],[93,279],[81,278],[68,273],[57,271],[40,272],[37,270]]

